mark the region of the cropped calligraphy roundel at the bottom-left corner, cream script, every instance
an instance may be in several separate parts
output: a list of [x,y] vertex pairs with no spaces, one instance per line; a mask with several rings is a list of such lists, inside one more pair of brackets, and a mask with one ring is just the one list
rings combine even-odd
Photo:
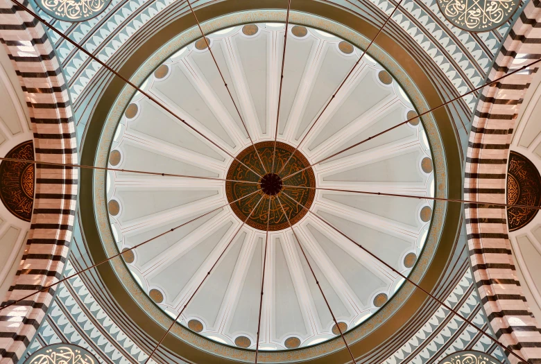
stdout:
[[92,354],[71,344],[54,344],[37,350],[27,364],[98,364]]

